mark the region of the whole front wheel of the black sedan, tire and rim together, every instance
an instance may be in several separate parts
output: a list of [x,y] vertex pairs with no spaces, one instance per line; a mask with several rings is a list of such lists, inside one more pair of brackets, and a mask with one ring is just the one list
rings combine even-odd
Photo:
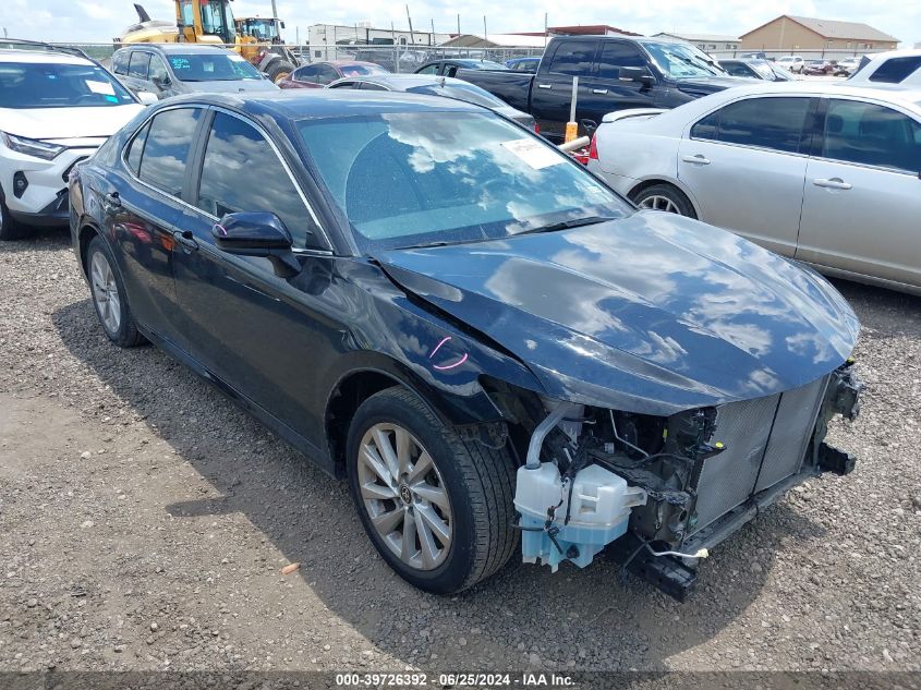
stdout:
[[346,452],[365,532],[410,584],[451,594],[508,561],[518,533],[516,468],[506,448],[461,439],[396,387],[359,407]]

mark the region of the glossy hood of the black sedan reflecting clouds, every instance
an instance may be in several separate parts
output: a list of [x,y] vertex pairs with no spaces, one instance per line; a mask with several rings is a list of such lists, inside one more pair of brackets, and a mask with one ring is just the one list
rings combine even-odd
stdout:
[[859,329],[813,271],[671,214],[376,258],[510,351],[547,395],[649,414],[815,380]]

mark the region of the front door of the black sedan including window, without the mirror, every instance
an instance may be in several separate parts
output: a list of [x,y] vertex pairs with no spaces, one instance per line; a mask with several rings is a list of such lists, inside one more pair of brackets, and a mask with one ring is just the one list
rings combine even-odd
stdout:
[[250,121],[214,111],[196,169],[197,210],[178,221],[174,261],[185,347],[235,391],[301,435],[322,438],[308,401],[330,348],[314,298],[299,286],[328,270],[330,257],[302,255],[302,274],[282,278],[267,258],[222,252],[211,235],[223,215],[238,211],[275,213],[305,252],[318,246],[318,230],[276,149]]

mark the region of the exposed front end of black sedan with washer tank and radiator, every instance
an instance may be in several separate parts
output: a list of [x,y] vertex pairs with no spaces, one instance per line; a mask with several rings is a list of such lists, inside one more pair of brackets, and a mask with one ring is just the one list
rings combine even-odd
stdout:
[[625,572],[683,600],[698,559],[761,508],[853,470],[824,438],[835,414],[857,416],[862,387],[848,360],[799,388],[670,416],[546,404],[518,471],[524,561],[584,567],[610,545]]

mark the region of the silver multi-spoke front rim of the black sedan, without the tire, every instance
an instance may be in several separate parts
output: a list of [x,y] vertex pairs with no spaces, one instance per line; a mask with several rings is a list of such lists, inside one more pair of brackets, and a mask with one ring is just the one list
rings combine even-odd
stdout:
[[359,488],[371,523],[401,561],[434,570],[453,536],[451,504],[432,456],[397,424],[375,424],[359,447]]

